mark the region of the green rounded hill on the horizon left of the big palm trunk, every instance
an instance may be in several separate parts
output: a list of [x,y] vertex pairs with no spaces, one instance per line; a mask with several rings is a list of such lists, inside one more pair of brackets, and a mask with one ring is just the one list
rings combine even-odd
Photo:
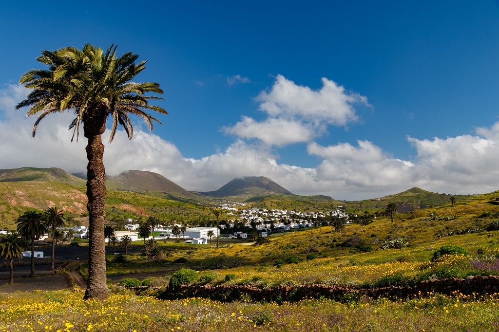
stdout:
[[86,183],[85,180],[56,167],[0,169],[0,182],[15,181],[48,181],[73,185],[85,185]]

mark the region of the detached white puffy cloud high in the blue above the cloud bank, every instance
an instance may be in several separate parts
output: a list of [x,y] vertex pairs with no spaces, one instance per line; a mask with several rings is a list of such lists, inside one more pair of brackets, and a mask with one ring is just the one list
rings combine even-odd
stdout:
[[369,105],[367,98],[326,78],[322,88],[314,91],[298,86],[282,75],[277,75],[270,91],[256,97],[258,109],[267,114],[261,122],[243,117],[228,134],[240,138],[258,139],[267,145],[283,146],[297,142],[310,142],[324,134],[328,125],[346,126],[356,122],[358,116],[353,105]]

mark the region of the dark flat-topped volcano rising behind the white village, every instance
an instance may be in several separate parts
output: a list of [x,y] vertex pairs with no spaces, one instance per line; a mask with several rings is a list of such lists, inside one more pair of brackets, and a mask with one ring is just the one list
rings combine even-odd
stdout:
[[265,176],[235,178],[218,190],[200,192],[200,194],[213,197],[294,195]]

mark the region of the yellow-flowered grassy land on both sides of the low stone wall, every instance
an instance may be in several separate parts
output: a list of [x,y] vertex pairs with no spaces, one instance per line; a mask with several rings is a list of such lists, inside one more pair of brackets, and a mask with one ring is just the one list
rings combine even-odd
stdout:
[[[116,286],[120,276],[167,286],[171,274],[192,268],[198,277],[212,274],[213,285],[329,284],[376,288],[411,286],[421,280],[468,275],[499,275],[499,231],[486,230],[499,220],[496,193],[476,195],[425,210],[378,218],[368,225],[348,224],[269,236],[259,246],[216,241],[193,246],[160,241],[168,257],[149,261],[141,254],[126,262],[108,256],[111,297],[82,300],[79,289],[0,293],[0,331],[499,331],[499,294],[430,294],[404,301],[387,299],[303,299],[294,303],[230,303],[190,298],[158,300]],[[124,199],[121,197],[120,199]],[[272,202],[274,204],[274,202]],[[404,246],[382,249],[390,240]],[[134,243],[140,249],[142,241]],[[459,255],[432,257],[443,246],[459,246]],[[140,250],[139,250],[140,251]],[[213,267],[239,262],[236,267]],[[184,259],[187,263],[174,263]],[[224,261],[225,259],[225,261]]]

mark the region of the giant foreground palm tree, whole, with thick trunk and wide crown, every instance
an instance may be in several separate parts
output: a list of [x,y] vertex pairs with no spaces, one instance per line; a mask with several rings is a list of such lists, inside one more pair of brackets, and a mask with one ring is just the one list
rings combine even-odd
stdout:
[[153,121],[161,122],[148,111],[168,114],[163,108],[149,104],[149,100],[160,98],[145,95],[162,94],[158,83],[132,82],[145,69],[145,61],[135,63],[137,59],[138,55],[131,52],[117,57],[114,45],[105,52],[90,44],[85,44],[81,50],[72,46],[55,51],[45,50],[36,60],[47,65],[48,69],[30,70],[19,80],[20,84],[32,89],[27,98],[16,105],[16,109],[29,107],[27,116],[38,115],[33,126],[33,137],[38,124],[47,115],[68,111],[75,114],[69,125],[73,129],[73,138],[76,136],[78,140],[81,125],[83,136],[87,139],[87,209],[91,237],[84,299],[105,300],[109,297],[104,244],[106,171],[102,144],[108,117],[112,118],[111,143],[119,126],[124,128],[129,139],[132,138],[130,114],[143,118],[150,130]]

